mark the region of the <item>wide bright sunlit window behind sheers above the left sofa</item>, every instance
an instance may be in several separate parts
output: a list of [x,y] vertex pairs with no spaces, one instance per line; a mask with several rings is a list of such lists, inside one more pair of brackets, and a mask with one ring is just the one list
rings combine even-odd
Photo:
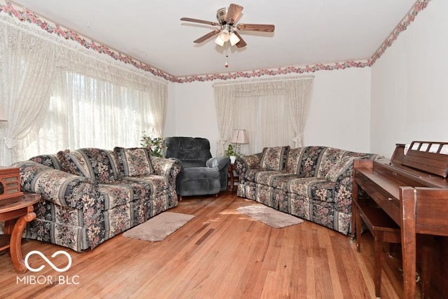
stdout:
[[66,148],[140,146],[142,131],[155,126],[150,98],[149,92],[63,71],[24,158]]

